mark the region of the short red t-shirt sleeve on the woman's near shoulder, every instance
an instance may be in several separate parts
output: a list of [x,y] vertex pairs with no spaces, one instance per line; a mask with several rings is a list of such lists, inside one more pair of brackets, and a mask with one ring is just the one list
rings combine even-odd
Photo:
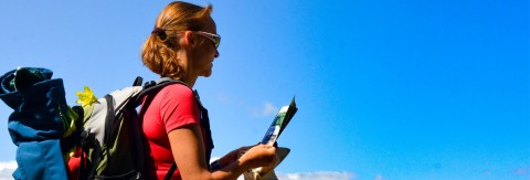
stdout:
[[193,92],[181,84],[168,85],[160,93],[160,116],[170,133],[186,125],[199,124],[199,108]]

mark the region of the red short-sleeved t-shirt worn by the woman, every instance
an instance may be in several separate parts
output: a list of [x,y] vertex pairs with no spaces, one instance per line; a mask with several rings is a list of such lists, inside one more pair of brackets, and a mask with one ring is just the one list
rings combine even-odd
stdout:
[[[150,150],[147,155],[147,179],[163,179],[174,162],[168,134],[179,127],[200,125],[200,110],[195,96],[190,87],[182,84],[171,84],[158,92],[144,114],[144,134]],[[201,128],[202,129],[202,128]],[[202,129],[204,137],[204,129]],[[204,142],[204,139],[202,140]],[[172,179],[181,179],[174,171]]]

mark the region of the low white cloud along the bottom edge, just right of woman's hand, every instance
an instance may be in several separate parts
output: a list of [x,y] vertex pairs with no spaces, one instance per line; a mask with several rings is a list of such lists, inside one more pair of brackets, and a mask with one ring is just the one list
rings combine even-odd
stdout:
[[278,179],[282,180],[353,180],[357,176],[352,172],[339,171],[316,171],[299,173],[279,173],[276,172]]

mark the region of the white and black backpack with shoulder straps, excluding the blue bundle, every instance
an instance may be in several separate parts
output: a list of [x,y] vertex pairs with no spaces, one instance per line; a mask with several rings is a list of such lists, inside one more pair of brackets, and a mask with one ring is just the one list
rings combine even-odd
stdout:
[[[141,130],[141,119],[137,107],[145,100],[148,106],[155,94],[169,84],[186,83],[171,78],[160,78],[157,82],[148,82],[141,86],[142,78],[137,77],[130,87],[115,91],[104,98],[97,99],[87,106],[74,106],[78,115],[84,115],[83,130],[81,131],[80,166],[68,163],[68,168],[75,174],[75,167],[78,168],[78,177],[88,179],[142,179],[145,167],[145,142]],[[191,88],[190,88],[191,89]],[[208,110],[200,103],[194,92],[201,112],[201,126],[205,129],[209,146],[206,148],[206,162],[210,160],[213,149]],[[146,97],[144,99],[144,97]],[[204,121],[206,120],[206,121]],[[86,153],[86,156],[85,156]],[[86,161],[85,161],[86,159]],[[71,166],[73,165],[73,166]],[[206,163],[208,165],[208,163]],[[74,167],[74,168],[72,168]],[[170,178],[176,169],[168,171]],[[72,179],[72,178],[71,178]]]

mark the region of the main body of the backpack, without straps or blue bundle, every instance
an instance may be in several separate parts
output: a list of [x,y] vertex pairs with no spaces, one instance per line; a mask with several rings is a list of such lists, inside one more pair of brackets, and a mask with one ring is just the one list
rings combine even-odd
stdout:
[[78,115],[76,129],[62,139],[70,179],[141,178],[144,139],[136,97],[142,91],[137,77],[130,87],[72,107]]

